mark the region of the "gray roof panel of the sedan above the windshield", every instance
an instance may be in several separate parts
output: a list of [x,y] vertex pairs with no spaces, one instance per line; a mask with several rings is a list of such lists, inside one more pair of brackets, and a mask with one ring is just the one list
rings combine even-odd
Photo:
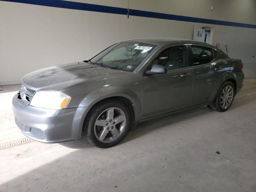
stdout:
[[149,44],[156,44],[156,45],[160,45],[160,44],[167,43],[167,42],[169,42],[169,44],[196,43],[196,44],[212,46],[212,45],[204,43],[204,42],[199,42],[199,41],[189,40],[189,39],[180,39],[180,38],[141,38],[141,39],[128,40],[128,42],[140,42],[140,43],[149,43]]

